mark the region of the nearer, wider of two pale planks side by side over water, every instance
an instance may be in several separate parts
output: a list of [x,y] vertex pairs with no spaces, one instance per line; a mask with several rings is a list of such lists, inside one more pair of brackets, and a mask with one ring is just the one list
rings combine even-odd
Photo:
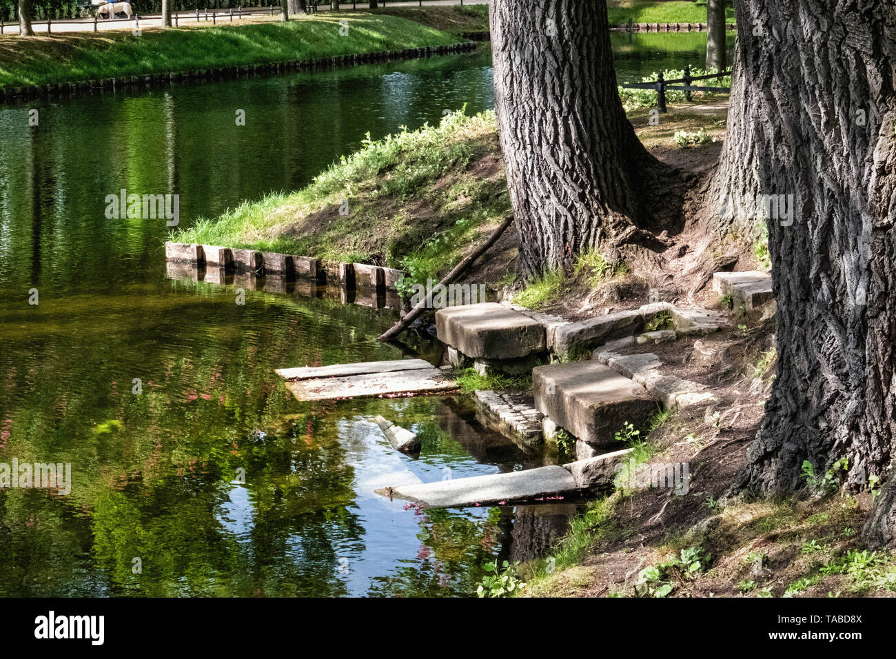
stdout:
[[287,388],[299,401],[371,398],[381,395],[438,394],[457,388],[441,369],[411,369],[349,377],[290,380]]

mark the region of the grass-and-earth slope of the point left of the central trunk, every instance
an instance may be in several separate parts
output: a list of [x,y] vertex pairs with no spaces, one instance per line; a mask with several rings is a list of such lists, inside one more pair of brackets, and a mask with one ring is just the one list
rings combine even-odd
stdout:
[[[437,279],[510,212],[495,113],[454,113],[332,164],[305,188],[246,202],[171,239],[401,267]],[[490,158],[491,169],[473,171]],[[340,214],[348,201],[349,212]]]

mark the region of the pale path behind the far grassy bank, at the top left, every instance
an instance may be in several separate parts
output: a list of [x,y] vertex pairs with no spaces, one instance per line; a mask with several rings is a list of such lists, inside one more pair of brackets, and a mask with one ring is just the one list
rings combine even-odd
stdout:
[[[260,12],[253,13],[251,15],[244,14],[242,19],[237,18],[235,15],[233,17],[233,22],[239,23],[247,23],[247,22],[270,22],[270,21],[280,21],[280,14],[277,13],[277,6],[274,5],[274,14],[271,16],[269,7],[244,7],[243,9],[251,12]],[[358,2],[358,9],[366,9],[368,2]],[[442,6],[442,5],[457,5],[461,4],[460,0],[423,0],[424,6]],[[476,2],[470,2],[466,0],[463,4],[488,4],[488,0],[476,0]],[[380,4],[382,6],[382,3]],[[389,7],[416,7],[418,6],[418,2],[389,2],[386,3],[386,8]],[[352,3],[344,2],[340,4],[340,9],[346,11],[352,9]],[[229,23],[230,17],[228,15],[228,9],[216,9],[214,10],[216,15],[215,21],[218,23]],[[319,13],[328,13],[331,12],[332,9],[330,5],[321,5],[318,7],[317,11]],[[189,12],[179,12],[178,13],[178,25],[190,25],[196,24],[196,13]],[[205,13],[199,14],[199,23],[201,24],[212,24],[211,20],[211,12],[208,15],[208,19],[205,17]],[[172,22],[173,22],[172,18]],[[114,19],[114,20],[106,20],[106,21],[98,21],[97,22],[97,30],[98,31],[106,31],[106,30],[134,30],[137,22],[134,19],[128,21],[127,19]],[[140,27],[141,28],[158,28],[161,26],[161,16],[159,14],[147,14],[146,16],[140,17]],[[45,22],[34,22],[31,27],[34,29],[36,34],[46,34],[47,33],[47,23]],[[51,28],[51,32],[56,34],[57,32],[92,32],[93,31],[93,19],[92,18],[83,18],[83,19],[67,19],[62,22],[53,22]],[[3,28],[4,35],[17,35],[19,33],[19,24],[5,24]]]

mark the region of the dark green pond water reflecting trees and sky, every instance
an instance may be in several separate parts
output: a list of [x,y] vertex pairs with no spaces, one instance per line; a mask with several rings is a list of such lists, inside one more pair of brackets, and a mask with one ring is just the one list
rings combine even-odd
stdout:
[[[644,58],[619,64],[696,63],[700,36],[634,35]],[[367,133],[493,101],[484,51],[0,108],[0,464],[72,470],[65,496],[0,490],[0,595],[471,594],[487,560],[563,533],[573,504],[421,512],[374,494],[551,459],[462,397],[289,398],[273,369],[401,358],[375,341],[394,312],[264,291],[237,305],[166,277],[165,221],[104,214],[121,188],[173,190],[189,224],[305,185]],[[375,414],[418,432],[418,459]]]

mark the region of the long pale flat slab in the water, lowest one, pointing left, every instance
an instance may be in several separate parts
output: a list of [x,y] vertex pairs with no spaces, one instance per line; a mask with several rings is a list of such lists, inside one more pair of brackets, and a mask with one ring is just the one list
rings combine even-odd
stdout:
[[[379,494],[385,493],[384,490],[376,491]],[[553,465],[521,472],[402,485],[392,490],[392,497],[408,499],[426,507],[462,508],[573,492],[578,492],[573,474],[563,467]]]

